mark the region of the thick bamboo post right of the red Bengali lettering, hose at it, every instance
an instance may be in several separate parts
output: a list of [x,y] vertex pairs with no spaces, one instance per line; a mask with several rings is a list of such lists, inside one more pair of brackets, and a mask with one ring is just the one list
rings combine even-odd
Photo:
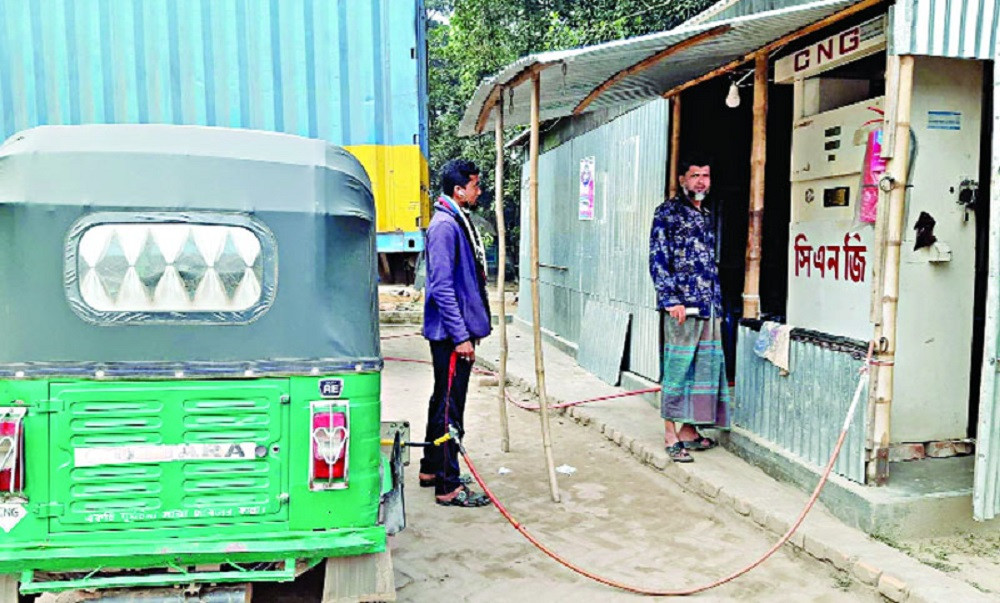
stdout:
[[[869,457],[869,483],[884,485],[889,477],[890,419],[892,414],[893,372],[896,361],[896,311],[899,303],[899,260],[903,243],[903,219],[906,206],[907,175],[910,163],[910,114],[913,99],[913,57],[901,56],[896,105],[896,132],[892,159],[886,171],[892,179],[889,192],[888,225],[885,240],[885,266],[882,277],[882,325],[877,353],[875,378],[874,449]],[[882,211],[883,208],[879,208]]]

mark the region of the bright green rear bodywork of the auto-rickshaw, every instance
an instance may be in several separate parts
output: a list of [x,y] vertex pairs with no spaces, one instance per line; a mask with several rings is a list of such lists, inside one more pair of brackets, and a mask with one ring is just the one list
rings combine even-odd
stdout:
[[[310,403],[322,399],[319,382],[330,378],[343,380],[337,404],[350,407],[349,481],[344,489],[312,491]],[[384,474],[379,394],[377,372],[0,381],[0,406],[27,408],[23,496],[6,494],[2,500],[8,508],[23,505],[27,513],[0,532],[0,573],[20,574],[23,592],[30,593],[67,587],[35,580],[37,571],[315,564],[384,551],[385,529],[378,524]],[[143,453],[177,458],[140,462]],[[123,578],[121,584],[109,578],[72,584],[294,577],[281,567],[259,576],[234,571],[194,580],[164,573]]]

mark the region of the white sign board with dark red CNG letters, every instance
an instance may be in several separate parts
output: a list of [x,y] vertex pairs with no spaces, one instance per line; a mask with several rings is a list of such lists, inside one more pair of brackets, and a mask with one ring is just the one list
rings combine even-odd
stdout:
[[881,15],[779,59],[774,64],[774,81],[810,77],[883,48],[885,16]]

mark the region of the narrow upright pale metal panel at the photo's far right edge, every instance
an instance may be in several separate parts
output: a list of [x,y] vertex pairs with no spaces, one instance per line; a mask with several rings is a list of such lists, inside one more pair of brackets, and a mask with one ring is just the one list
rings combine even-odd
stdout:
[[989,282],[986,295],[986,330],[983,372],[976,429],[976,479],[972,493],[973,516],[983,521],[1000,514],[1000,43],[993,62],[993,159],[990,169]]

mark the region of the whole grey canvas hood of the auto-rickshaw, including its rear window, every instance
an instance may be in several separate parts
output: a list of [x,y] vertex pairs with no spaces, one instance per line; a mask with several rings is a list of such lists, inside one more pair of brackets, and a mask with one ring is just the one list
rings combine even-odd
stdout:
[[379,366],[374,203],[343,149],[190,126],[0,147],[0,376]]

